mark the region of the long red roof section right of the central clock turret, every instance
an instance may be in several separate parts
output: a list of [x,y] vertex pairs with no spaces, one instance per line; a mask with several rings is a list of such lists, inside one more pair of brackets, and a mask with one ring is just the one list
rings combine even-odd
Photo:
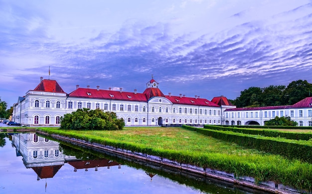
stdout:
[[191,97],[179,97],[179,96],[165,96],[172,104],[185,104],[193,106],[209,106],[209,107],[219,107],[219,105],[204,99],[204,98],[191,98]]

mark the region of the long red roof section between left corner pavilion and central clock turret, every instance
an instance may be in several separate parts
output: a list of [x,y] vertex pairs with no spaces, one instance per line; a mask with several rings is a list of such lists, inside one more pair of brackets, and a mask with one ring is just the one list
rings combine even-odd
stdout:
[[113,90],[97,90],[91,88],[78,88],[71,92],[68,96],[77,98],[96,98],[111,100],[127,100],[127,101],[147,101],[145,94],[134,92],[120,92]]

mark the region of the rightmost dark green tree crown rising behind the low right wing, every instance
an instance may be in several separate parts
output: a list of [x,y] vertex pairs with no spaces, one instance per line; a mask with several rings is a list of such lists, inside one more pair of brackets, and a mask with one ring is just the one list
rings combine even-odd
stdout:
[[283,92],[284,105],[293,105],[302,99],[309,97],[312,92],[312,84],[307,80],[291,82]]

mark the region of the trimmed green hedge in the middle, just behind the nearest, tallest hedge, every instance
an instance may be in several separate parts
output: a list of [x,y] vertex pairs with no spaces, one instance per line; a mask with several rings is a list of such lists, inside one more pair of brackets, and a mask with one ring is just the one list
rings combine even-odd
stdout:
[[242,129],[236,127],[223,127],[223,126],[204,126],[205,129],[214,129],[214,130],[228,130],[233,132],[240,132],[245,134],[253,134],[253,135],[262,135],[268,137],[284,137],[287,139],[296,139],[296,140],[310,140],[312,139],[312,133],[295,133],[295,132],[285,132],[278,130],[257,130],[257,129]]

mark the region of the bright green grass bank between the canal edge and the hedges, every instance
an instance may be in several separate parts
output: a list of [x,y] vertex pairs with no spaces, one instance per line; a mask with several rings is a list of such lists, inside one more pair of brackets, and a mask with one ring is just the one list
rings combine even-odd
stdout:
[[311,163],[246,148],[187,129],[41,130],[312,191]]

